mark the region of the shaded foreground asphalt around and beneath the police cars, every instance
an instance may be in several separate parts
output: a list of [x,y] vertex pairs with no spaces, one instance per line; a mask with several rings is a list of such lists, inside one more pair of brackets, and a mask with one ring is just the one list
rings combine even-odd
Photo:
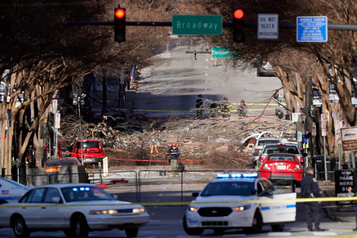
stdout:
[[[146,238],[185,238],[198,237],[188,236],[182,228],[182,217],[185,207],[147,207],[151,216],[150,222],[139,229],[137,237]],[[353,214],[354,215],[354,214]],[[201,237],[330,237],[337,235],[353,234],[354,222],[337,223],[326,216],[322,218],[321,228],[329,229],[325,232],[308,232],[306,228],[304,210],[298,206],[296,222],[287,224],[283,232],[272,232],[270,226],[264,226],[260,234],[244,234],[241,229],[228,230],[217,235],[213,230],[206,230]],[[356,236],[357,233],[355,232]],[[90,237],[126,237],[124,231],[112,230],[104,232],[90,232]],[[0,229],[0,238],[15,237],[12,229]],[[65,237],[64,233],[58,232],[34,232],[31,237]]]

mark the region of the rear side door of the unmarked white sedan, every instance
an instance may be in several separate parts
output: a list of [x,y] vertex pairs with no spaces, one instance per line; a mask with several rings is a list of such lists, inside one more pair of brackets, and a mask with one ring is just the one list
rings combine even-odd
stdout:
[[21,215],[25,219],[28,228],[42,227],[42,217],[45,214],[45,203],[43,202],[46,188],[36,188],[21,205]]

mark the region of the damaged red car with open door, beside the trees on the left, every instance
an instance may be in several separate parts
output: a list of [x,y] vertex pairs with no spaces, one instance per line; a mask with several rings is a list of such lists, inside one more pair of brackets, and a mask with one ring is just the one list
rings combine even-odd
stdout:
[[[97,163],[103,161],[105,151],[100,140],[82,140],[82,148],[84,163]],[[75,157],[81,161],[81,141],[77,141],[73,149],[68,142],[60,142],[58,150],[58,157]]]

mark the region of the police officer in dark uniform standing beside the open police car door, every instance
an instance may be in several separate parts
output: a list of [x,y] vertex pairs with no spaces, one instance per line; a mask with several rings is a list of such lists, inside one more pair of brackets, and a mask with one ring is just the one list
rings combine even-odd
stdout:
[[[320,188],[318,187],[316,178],[313,176],[314,171],[312,167],[306,168],[305,177],[301,180],[301,197],[314,198],[321,197]],[[305,202],[306,222],[308,231],[326,231],[320,228],[321,208],[318,202]],[[312,213],[314,215],[315,229],[312,228]]]

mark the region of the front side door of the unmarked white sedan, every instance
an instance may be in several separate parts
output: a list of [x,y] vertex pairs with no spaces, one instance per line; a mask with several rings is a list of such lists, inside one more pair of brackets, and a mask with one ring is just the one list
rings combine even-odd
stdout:
[[47,228],[59,228],[64,226],[63,206],[55,206],[53,198],[62,199],[60,191],[57,188],[47,188],[44,196],[45,213],[42,216],[41,223]]

